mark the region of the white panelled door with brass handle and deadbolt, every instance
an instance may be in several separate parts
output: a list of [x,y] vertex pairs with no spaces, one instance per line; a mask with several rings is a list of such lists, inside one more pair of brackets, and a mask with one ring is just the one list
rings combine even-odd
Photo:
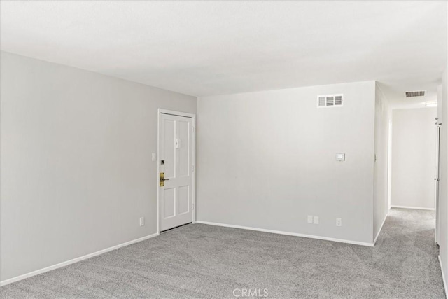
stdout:
[[164,231],[193,221],[193,118],[160,114],[159,163],[159,219]]

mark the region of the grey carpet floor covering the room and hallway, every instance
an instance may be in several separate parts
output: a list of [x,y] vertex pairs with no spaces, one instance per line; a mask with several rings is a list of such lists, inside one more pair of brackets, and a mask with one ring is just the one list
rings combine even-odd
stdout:
[[445,298],[434,227],[433,211],[392,209],[366,247],[190,224],[8,284],[0,297]]

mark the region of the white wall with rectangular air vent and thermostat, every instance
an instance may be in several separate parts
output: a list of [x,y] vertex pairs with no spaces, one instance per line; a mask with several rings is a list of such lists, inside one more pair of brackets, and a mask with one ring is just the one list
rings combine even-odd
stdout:
[[374,105],[374,81],[200,97],[197,219],[372,243]]

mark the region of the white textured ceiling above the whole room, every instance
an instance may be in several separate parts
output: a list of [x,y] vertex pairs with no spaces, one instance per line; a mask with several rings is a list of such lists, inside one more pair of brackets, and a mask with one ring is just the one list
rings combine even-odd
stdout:
[[377,80],[403,103],[446,65],[446,1],[0,5],[1,50],[187,95]]

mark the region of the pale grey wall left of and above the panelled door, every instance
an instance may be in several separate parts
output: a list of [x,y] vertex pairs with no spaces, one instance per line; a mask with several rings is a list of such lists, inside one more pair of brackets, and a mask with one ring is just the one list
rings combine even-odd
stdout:
[[196,106],[2,52],[1,281],[154,234],[157,109]]

